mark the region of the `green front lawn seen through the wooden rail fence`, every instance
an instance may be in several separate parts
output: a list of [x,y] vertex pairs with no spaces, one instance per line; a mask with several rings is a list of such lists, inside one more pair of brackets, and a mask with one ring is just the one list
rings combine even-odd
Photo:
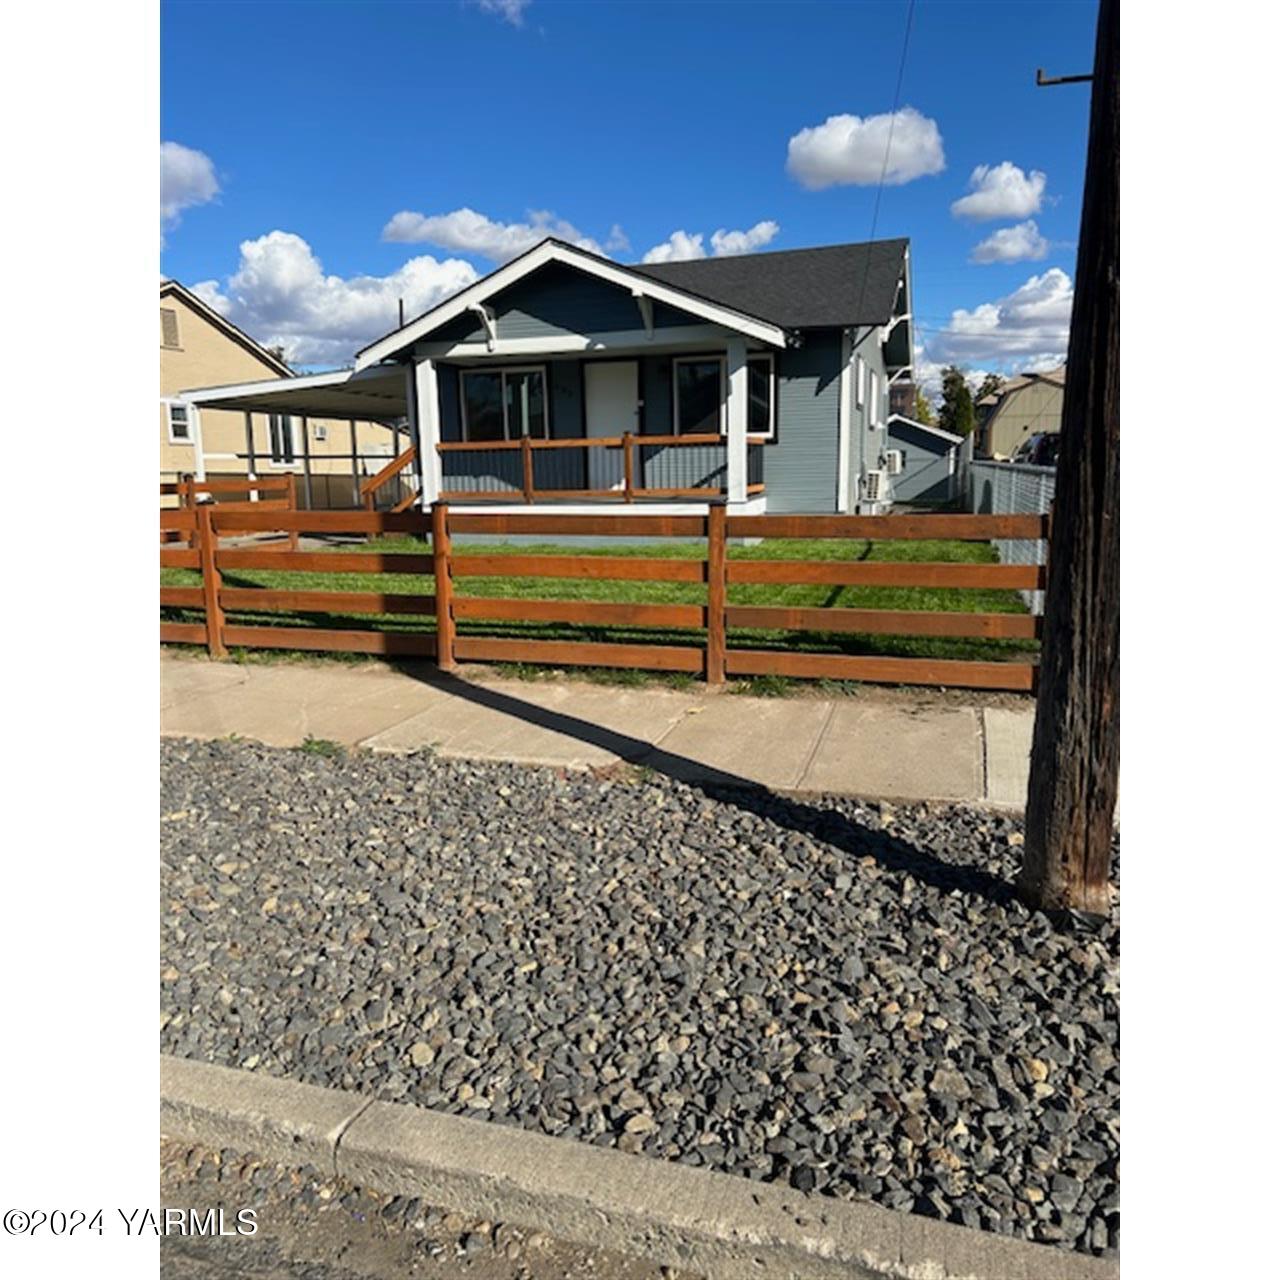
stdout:
[[[383,538],[370,543],[334,547],[340,559],[349,552],[379,550],[422,554],[426,544],[411,538]],[[700,559],[701,543],[654,543],[635,547],[564,545],[468,545],[454,544],[454,554],[568,554],[568,556],[644,556],[669,559]],[[731,545],[731,559],[822,559],[822,561],[931,561],[951,563],[996,563],[988,543],[960,541],[860,541],[829,539],[790,541],[768,539],[755,547]],[[200,575],[191,570],[161,570],[164,585],[196,585]],[[233,570],[223,575],[224,586],[274,586],[324,591],[388,591],[430,594],[433,581],[410,573],[293,573],[279,570]],[[458,595],[515,596],[526,599],[609,600],[654,604],[698,604],[705,600],[705,588],[692,582],[631,582],[591,579],[460,577]],[[845,608],[925,609],[973,613],[1025,613],[1016,591],[959,590],[879,586],[806,586],[735,584],[728,588],[730,604],[841,605]],[[182,609],[165,609],[174,621],[188,618]],[[198,621],[198,614],[189,618]],[[241,625],[315,626],[357,630],[430,631],[430,617],[392,614],[289,614],[275,611],[228,613]],[[608,640],[646,644],[698,644],[700,632],[655,631],[648,627],[598,627],[567,623],[520,623],[503,621],[462,621],[461,635],[488,635],[525,639]],[[829,632],[746,631],[730,632],[731,646],[786,646],[806,653],[878,654],[910,658],[966,658],[1005,660],[1025,658],[1037,645],[1029,640],[986,640],[966,637],[842,635]]]

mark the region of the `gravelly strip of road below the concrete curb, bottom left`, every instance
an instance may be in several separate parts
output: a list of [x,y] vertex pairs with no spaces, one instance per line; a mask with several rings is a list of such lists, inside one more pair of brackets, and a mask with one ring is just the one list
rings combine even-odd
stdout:
[[257,1221],[252,1236],[163,1239],[163,1280],[676,1280],[604,1249],[188,1143],[160,1143],[160,1190],[166,1208],[221,1206],[228,1224],[252,1208]]

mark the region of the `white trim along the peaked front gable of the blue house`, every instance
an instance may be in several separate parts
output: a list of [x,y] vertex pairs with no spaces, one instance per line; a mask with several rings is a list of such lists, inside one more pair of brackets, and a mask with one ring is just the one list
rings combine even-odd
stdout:
[[721,306],[717,302],[707,302],[691,293],[686,293],[684,289],[659,284],[657,280],[640,275],[626,266],[607,262],[594,253],[573,248],[573,246],[564,244],[561,241],[544,239],[540,244],[535,244],[529,250],[529,252],[512,259],[506,266],[492,271],[483,280],[476,280],[475,284],[468,285],[461,293],[456,293],[438,307],[433,307],[426,315],[419,316],[417,320],[404,325],[403,329],[396,329],[385,338],[380,338],[372,346],[357,352],[356,369],[367,369],[370,365],[376,365],[389,356],[399,355],[406,347],[412,346],[433,329],[448,324],[449,320],[453,320],[462,312],[470,311],[476,303],[484,302],[485,298],[508,288],[548,262],[564,262],[568,266],[575,266],[602,280],[608,280],[611,284],[628,289],[636,297],[649,297],[655,302],[664,302],[703,320],[710,320],[713,324],[723,325],[726,329],[733,329],[737,333],[746,334],[749,338],[768,343],[771,347],[786,346],[786,333],[774,324],[756,320],[754,316],[733,311],[731,307]]

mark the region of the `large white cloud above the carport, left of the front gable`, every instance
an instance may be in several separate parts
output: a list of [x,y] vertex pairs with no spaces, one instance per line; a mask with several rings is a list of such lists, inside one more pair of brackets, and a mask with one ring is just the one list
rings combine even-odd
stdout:
[[244,241],[227,280],[193,292],[266,347],[283,347],[300,366],[349,364],[360,347],[466,288],[476,270],[461,259],[410,259],[390,275],[326,275],[311,246],[292,232]]

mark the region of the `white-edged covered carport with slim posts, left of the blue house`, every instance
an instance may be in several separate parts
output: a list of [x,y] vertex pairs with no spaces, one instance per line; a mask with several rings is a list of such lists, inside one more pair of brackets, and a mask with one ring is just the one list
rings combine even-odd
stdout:
[[[312,506],[312,452],[308,420],[346,421],[351,433],[351,476],[355,504],[360,506],[360,460],[357,449],[356,424],[378,422],[394,433],[396,447],[392,463],[378,476],[365,481],[367,489],[372,480],[383,476],[392,479],[401,471],[412,467],[415,493],[421,490],[421,472],[416,465],[416,431],[408,397],[410,381],[402,365],[375,365],[360,371],[340,369],[325,374],[303,374],[297,378],[273,378],[256,383],[234,383],[223,387],[198,387],[180,393],[180,399],[188,407],[192,424],[192,439],[196,445],[196,479],[205,479],[205,451],[200,430],[200,411],[230,410],[244,413],[244,442],[248,474],[257,471],[253,431],[250,415],[278,413],[297,419],[302,424],[301,463],[306,506]],[[406,425],[407,424],[407,425]],[[260,452],[260,451],[259,451]],[[410,454],[406,458],[406,454]],[[332,460],[333,454],[326,458]],[[411,499],[412,500],[412,499]],[[406,503],[407,506],[408,503]]]

